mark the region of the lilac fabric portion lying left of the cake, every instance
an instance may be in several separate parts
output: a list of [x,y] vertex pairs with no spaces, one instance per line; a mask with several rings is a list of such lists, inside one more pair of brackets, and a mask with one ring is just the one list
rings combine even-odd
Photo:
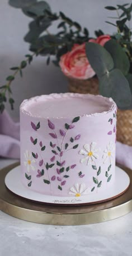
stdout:
[[20,124],[13,122],[7,111],[0,114],[0,156],[20,158]]

